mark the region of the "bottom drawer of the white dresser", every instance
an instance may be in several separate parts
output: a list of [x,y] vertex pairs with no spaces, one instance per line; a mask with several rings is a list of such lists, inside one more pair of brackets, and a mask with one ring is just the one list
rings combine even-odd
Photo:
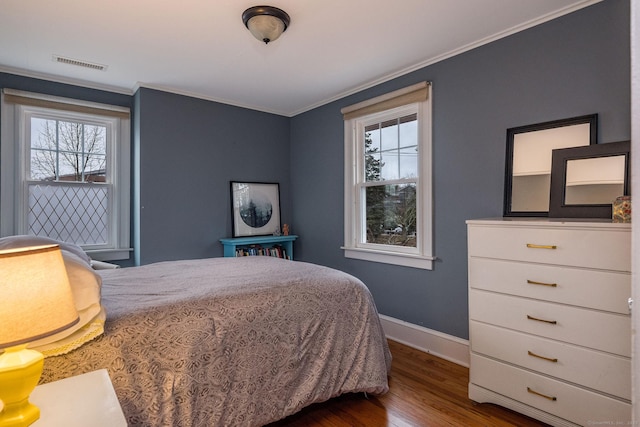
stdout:
[[631,425],[629,403],[476,354],[470,381],[583,426]]

